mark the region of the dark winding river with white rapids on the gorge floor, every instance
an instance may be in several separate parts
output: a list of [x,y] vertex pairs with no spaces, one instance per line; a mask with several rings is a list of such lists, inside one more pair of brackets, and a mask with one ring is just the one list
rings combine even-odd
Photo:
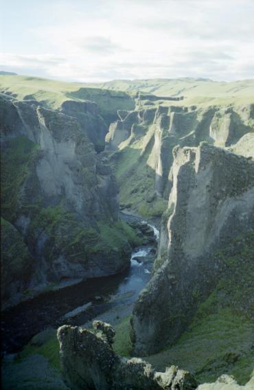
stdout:
[[[141,220],[135,216],[122,215],[122,218]],[[159,230],[154,225],[150,227],[158,240]],[[113,325],[121,321],[131,314],[139,293],[151,277],[154,253],[152,244],[139,246],[132,252],[130,268],[124,273],[87,279],[4,310],[2,352],[18,352],[34,334],[48,327],[58,328],[65,323],[89,326],[94,319]]]

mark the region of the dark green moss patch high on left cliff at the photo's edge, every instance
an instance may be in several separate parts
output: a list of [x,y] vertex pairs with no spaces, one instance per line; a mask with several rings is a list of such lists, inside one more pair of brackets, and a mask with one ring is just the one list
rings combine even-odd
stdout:
[[30,173],[30,167],[38,155],[39,146],[20,136],[8,141],[1,152],[1,209],[3,218],[12,222],[20,191]]

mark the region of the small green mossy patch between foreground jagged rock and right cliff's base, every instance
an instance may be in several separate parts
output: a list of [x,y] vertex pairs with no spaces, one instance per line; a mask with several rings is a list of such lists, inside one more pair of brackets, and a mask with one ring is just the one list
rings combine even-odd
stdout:
[[116,354],[120,356],[130,356],[131,342],[130,342],[130,316],[125,317],[121,323],[114,326],[115,339],[113,349]]

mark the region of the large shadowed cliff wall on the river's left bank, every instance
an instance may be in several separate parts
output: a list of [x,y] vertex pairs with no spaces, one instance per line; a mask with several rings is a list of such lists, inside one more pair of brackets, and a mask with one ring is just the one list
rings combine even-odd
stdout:
[[[18,229],[34,257],[16,291],[25,289],[27,279],[34,288],[126,268],[132,231],[118,221],[118,187],[106,155],[96,154],[90,141],[100,141],[98,123],[101,138],[105,130],[96,104],[82,106],[78,119],[34,101],[1,99],[0,108],[3,218]],[[74,108],[62,105],[68,113]],[[88,124],[82,122],[86,115]],[[7,275],[6,259],[3,266]],[[12,296],[8,291],[5,299]]]

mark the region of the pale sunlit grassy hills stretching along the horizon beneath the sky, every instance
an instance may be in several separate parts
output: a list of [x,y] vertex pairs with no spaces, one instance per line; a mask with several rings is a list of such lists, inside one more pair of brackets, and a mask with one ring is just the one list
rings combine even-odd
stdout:
[[[130,95],[141,91],[154,95],[167,97],[180,97],[184,99],[176,105],[192,106],[201,104],[211,106],[215,104],[250,104],[254,102],[254,79],[238,80],[233,82],[217,82],[204,78],[176,78],[176,79],[143,79],[143,80],[112,80],[102,83],[60,82],[46,78],[29,76],[10,76],[1,72],[0,92],[12,94],[17,99],[33,98],[47,102],[51,108],[58,108],[67,98],[71,100],[93,100],[95,89],[114,91],[115,98],[119,93]],[[80,89],[86,88],[86,92]],[[84,91],[84,90],[83,90]],[[122,92],[119,92],[122,91]],[[96,101],[96,100],[95,100]],[[98,103],[98,102],[97,102]],[[100,103],[99,103],[100,105]],[[129,109],[129,108],[128,108]]]

